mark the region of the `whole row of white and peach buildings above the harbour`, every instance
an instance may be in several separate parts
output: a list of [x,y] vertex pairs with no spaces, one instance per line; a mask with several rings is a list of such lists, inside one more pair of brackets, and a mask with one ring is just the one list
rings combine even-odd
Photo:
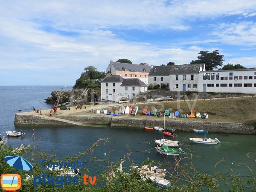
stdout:
[[170,91],[256,93],[256,68],[206,71],[204,64],[148,66],[110,61],[102,80],[102,99],[134,98],[148,85],[166,84]]

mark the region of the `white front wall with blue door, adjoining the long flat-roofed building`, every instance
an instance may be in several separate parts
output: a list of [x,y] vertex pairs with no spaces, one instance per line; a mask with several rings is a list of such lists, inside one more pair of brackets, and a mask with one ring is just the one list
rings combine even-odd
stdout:
[[170,75],[169,89],[170,91],[198,91],[198,77],[198,74]]

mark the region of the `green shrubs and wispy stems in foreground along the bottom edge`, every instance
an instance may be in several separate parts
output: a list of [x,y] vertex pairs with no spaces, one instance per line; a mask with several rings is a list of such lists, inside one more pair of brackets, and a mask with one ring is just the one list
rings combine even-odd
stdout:
[[[105,162],[108,164],[108,168],[98,175],[96,184],[94,186],[88,185],[65,185],[63,187],[57,188],[55,185],[38,185],[34,187],[33,180],[25,180],[25,174],[29,175],[42,175],[45,169],[42,169],[41,164],[34,163],[35,160],[46,159],[47,162],[56,161],[56,156],[51,152],[38,151],[36,146],[24,146],[23,144],[17,148],[12,148],[10,145],[5,145],[6,140],[0,142],[0,175],[4,173],[14,172],[14,168],[9,166],[4,161],[4,157],[7,155],[21,155],[33,163],[34,168],[28,173],[21,170],[17,170],[17,173],[22,176],[22,187],[19,191],[24,192],[53,192],[53,191],[131,191],[131,192],[157,192],[163,191],[163,189],[154,186],[147,179],[141,178],[138,171],[123,172],[122,163],[124,160],[128,160],[132,165],[130,159],[131,151],[128,149],[127,154],[117,163],[111,163],[108,160],[100,160],[93,154],[94,149],[97,147],[99,142],[106,141],[99,139],[92,145],[90,149],[84,149],[83,152],[76,154],[72,157],[65,158],[65,161],[75,161],[78,158],[88,159],[86,163],[89,162]],[[89,158],[88,158],[89,157]],[[190,163],[182,165],[183,160],[189,160]],[[218,162],[219,163],[219,162]],[[218,164],[217,163],[217,164]],[[153,165],[157,164],[161,167],[165,166],[167,173],[171,174],[170,181],[172,182],[172,187],[169,189],[164,189],[165,191],[180,192],[180,191],[253,191],[256,189],[256,175],[240,176],[233,175],[231,173],[220,174],[216,173],[214,175],[209,175],[205,173],[198,172],[192,165],[192,156],[175,158],[175,163],[160,163],[154,162],[153,160],[147,159],[143,162],[143,165]],[[216,165],[217,165],[216,164]],[[216,166],[215,165],[215,166]],[[87,173],[89,170],[84,168],[82,172]],[[79,171],[80,172],[80,171]],[[47,173],[54,178],[58,176],[58,172],[48,172]],[[79,182],[82,182],[82,177],[79,177]]]

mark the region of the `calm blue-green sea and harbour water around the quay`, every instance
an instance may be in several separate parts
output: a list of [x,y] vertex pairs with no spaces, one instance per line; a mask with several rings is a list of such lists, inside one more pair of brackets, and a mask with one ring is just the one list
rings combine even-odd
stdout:
[[[26,135],[23,137],[9,137],[7,144],[17,146],[20,143],[30,144],[32,140],[32,126],[14,126],[15,113],[18,110],[32,111],[33,107],[36,109],[51,108],[52,105],[46,104],[44,99],[50,96],[52,90],[69,90],[72,87],[48,87],[48,86],[0,86],[0,133],[6,136],[6,131],[23,130]],[[42,99],[39,101],[38,99]],[[207,128],[205,128],[207,130]],[[256,136],[254,135],[240,135],[240,134],[218,134],[209,133],[207,137],[212,139],[218,138],[222,143],[220,145],[202,145],[189,141],[189,137],[204,137],[204,135],[194,134],[191,132],[177,131],[177,139],[182,145],[183,151],[192,151],[192,154],[198,157],[193,158],[194,166],[206,173],[215,172],[215,164],[223,158],[227,160],[218,164],[216,171],[227,172],[233,170],[236,174],[248,175],[251,171],[244,165],[256,172]],[[39,138],[41,137],[40,141]],[[99,147],[95,149],[94,155],[101,160],[107,158],[108,154],[111,162],[120,160],[126,153],[127,148],[131,148],[131,159],[134,163],[140,164],[146,160],[147,157],[160,160],[162,162],[174,162],[174,157],[162,157],[155,153],[155,149],[144,151],[154,147],[154,139],[161,138],[163,134],[159,131],[148,131],[143,128],[111,128],[109,126],[38,126],[35,130],[36,142],[42,150],[54,150],[57,158],[62,160],[64,157],[72,156],[84,148],[90,146],[99,138],[107,139],[107,143],[101,142]],[[184,141],[183,141],[184,140]],[[145,143],[145,142],[150,142]],[[247,153],[250,154],[249,158]],[[104,153],[107,155],[105,156]],[[186,156],[183,156],[186,157]],[[185,163],[185,162],[184,162]],[[244,164],[239,164],[244,163]],[[104,163],[88,163],[91,173],[101,172],[105,168]],[[123,166],[128,166],[125,162]]]

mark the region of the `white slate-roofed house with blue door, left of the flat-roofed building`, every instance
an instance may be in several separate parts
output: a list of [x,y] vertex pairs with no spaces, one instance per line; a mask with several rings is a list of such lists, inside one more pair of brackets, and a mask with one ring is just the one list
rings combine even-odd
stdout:
[[154,66],[148,74],[148,84],[166,84],[171,91],[198,91],[198,76],[204,64]]

